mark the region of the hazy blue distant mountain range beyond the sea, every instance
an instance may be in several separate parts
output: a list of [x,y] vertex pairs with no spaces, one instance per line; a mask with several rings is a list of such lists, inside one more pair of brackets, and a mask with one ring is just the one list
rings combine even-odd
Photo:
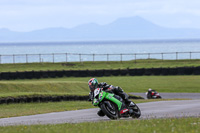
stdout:
[[165,28],[138,16],[120,18],[107,25],[89,23],[71,29],[47,28],[31,32],[14,32],[8,29],[0,29],[0,42],[193,38],[200,39],[200,29]]

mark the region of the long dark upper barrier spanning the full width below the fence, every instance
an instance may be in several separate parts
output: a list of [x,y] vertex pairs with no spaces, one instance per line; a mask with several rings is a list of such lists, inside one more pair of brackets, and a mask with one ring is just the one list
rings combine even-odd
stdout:
[[117,70],[60,70],[1,72],[0,80],[56,78],[56,77],[101,77],[101,76],[142,76],[142,75],[200,75],[200,67],[140,68]]

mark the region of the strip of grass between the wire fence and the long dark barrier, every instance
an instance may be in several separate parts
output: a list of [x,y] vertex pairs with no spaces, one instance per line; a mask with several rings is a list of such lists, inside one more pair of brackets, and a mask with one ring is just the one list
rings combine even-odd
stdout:
[[200,60],[136,60],[135,61],[96,61],[70,63],[18,63],[0,64],[0,72],[40,71],[40,70],[94,70],[94,69],[126,69],[126,68],[159,68],[200,66]]

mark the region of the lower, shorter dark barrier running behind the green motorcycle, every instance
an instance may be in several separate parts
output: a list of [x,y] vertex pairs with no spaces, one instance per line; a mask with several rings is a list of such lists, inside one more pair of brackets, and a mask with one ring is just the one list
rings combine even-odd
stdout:
[[[31,103],[31,102],[60,102],[60,101],[87,101],[88,96],[23,96],[0,98],[0,104]],[[129,96],[131,99],[143,99],[139,96]]]

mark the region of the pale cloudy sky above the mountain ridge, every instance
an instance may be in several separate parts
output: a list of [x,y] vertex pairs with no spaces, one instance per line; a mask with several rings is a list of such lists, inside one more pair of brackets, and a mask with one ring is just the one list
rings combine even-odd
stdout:
[[200,0],[0,0],[0,29],[105,25],[134,16],[163,27],[200,29],[199,7]]

